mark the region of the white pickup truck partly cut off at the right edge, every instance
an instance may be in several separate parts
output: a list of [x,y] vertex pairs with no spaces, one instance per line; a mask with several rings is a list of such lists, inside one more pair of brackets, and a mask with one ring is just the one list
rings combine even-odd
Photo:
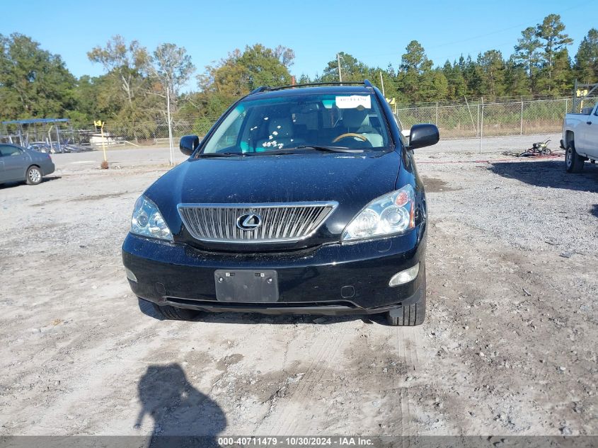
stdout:
[[585,161],[598,160],[598,102],[593,108],[583,108],[582,113],[568,113],[563,121],[565,165],[568,173],[582,171]]

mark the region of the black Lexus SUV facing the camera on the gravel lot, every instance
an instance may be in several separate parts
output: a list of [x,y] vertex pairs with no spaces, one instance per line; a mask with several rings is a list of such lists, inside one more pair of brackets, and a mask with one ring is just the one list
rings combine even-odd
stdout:
[[139,197],[122,259],[167,318],[198,311],[425,316],[426,202],[413,149],[369,81],[260,87]]

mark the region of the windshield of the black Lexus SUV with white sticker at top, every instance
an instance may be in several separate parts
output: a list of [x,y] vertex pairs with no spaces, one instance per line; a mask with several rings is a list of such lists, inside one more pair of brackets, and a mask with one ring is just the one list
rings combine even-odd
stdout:
[[246,98],[233,108],[202,154],[268,154],[290,149],[389,147],[376,97],[366,94],[297,94]]

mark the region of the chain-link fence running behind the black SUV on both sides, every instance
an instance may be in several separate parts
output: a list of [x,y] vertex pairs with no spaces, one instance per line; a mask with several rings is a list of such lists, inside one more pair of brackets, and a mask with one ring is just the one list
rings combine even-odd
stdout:
[[[597,98],[577,100],[576,112],[592,107]],[[479,100],[466,100],[465,103],[425,103],[420,105],[394,105],[396,115],[403,127],[408,129],[417,123],[432,123],[438,126],[442,139],[498,137],[511,135],[531,135],[558,133],[563,125],[565,113],[573,109],[572,98],[546,100],[506,100],[485,103]],[[217,116],[178,117],[173,120],[173,139],[183,135],[204,136],[218,119]],[[13,134],[8,127],[4,132]],[[166,120],[151,122],[110,122],[107,120],[103,137],[96,127],[85,129],[63,129],[61,139],[69,143],[101,147],[168,147],[168,123]],[[8,134],[1,138],[7,140]],[[45,134],[35,137],[25,136],[22,141],[45,138]],[[50,137],[52,138],[52,137]],[[17,139],[16,142],[19,142]]]

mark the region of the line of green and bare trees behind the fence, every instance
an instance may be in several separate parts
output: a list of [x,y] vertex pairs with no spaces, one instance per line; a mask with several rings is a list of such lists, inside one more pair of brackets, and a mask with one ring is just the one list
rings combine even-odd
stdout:
[[[387,98],[398,103],[464,100],[480,97],[559,97],[571,93],[573,80],[598,82],[598,30],[592,28],[577,47],[558,14],[522,30],[508,57],[498,50],[435,64],[417,40],[395,64],[369,67],[347,52],[331,57],[321,74],[296,76],[297,83],[370,79],[384,82]],[[399,52],[398,52],[399,53]],[[59,54],[43,50],[26,35],[0,34],[0,120],[69,117],[78,127],[93,120],[120,123],[137,137],[152,123],[202,117],[209,122],[234,100],[262,85],[291,84],[294,52],[287,47],[248,45],[230,52],[196,76],[197,90],[183,91],[195,73],[184,47],[164,43],[154,51],[116,35],[89,50],[103,67],[100,76],[69,72]],[[167,99],[168,98],[168,99]]]

